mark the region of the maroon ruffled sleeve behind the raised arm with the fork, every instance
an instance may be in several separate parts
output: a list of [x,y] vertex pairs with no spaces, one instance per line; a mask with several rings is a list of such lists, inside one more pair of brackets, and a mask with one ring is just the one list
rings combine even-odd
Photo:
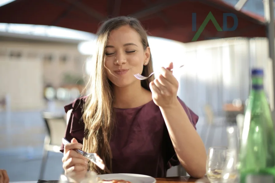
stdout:
[[[180,101],[181,106],[184,108],[190,123],[192,123],[193,127],[196,129],[196,124],[199,120],[199,116],[197,116],[191,109],[189,109],[187,105],[185,105],[185,103],[179,97],[178,97],[178,100]],[[163,134],[163,149],[165,150],[164,158],[165,158],[165,162],[167,162],[166,164],[167,169],[171,168],[172,166],[180,165],[180,161],[176,155],[176,152],[173,147],[166,125],[164,129],[164,134]]]

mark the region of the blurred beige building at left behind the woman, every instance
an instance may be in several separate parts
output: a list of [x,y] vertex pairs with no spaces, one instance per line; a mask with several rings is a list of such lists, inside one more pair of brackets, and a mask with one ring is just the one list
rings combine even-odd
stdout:
[[9,95],[12,110],[25,110],[43,108],[45,93],[69,100],[73,89],[77,97],[87,58],[77,49],[81,40],[18,35],[0,36],[0,98]]

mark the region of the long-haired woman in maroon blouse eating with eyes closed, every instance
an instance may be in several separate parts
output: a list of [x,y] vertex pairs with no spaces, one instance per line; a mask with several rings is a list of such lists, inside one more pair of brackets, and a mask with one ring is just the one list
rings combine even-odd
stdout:
[[[94,57],[91,95],[65,106],[70,116],[65,138],[72,142],[60,150],[65,173],[81,177],[90,170],[165,177],[168,168],[182,164],[192,177],[205,175],[206,151],[195,128],[198,116],[177,97],[173,64],[161,68],[156,79],[134,77],[153,72],[140,22],[131,17],[104,22]],[[72,149],[96,152],[106,170]]]

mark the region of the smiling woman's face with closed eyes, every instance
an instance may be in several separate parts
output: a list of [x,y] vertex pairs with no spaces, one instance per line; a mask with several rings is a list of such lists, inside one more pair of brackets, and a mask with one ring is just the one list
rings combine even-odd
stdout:
[[125,25],[111,31],[105,52],[107,77],[114,85],[124,87],[140,82],[134,74],[141,74],[143,65],[148,64],[150,48],[144,50],[136,30]]

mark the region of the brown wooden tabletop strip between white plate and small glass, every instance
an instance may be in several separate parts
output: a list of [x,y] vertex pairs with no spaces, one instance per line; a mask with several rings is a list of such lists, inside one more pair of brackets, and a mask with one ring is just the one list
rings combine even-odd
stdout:
[[179,182],[186,182],[186,183],[209,183],[207,176],[196,179],[189,176],[181,176],[181,177],[165,177],[165,178],[156,178],[157,183],[179,183]]

